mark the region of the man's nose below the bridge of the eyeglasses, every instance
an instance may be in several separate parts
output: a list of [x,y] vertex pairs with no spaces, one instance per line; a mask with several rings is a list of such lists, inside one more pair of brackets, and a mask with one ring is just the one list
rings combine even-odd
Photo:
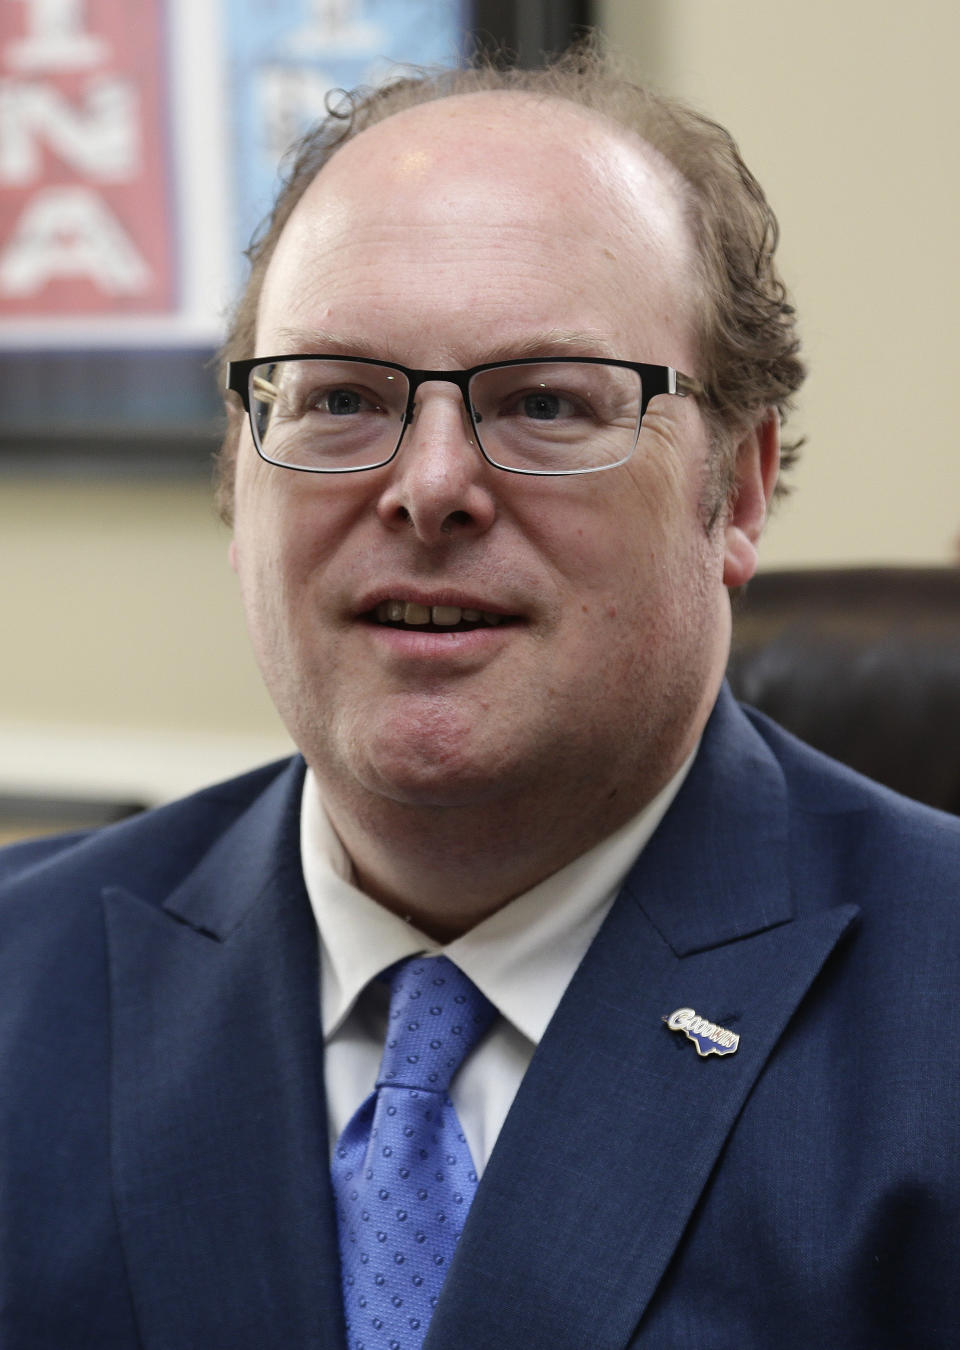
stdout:
[[377,512],[388,528],[413,528],[428,545],[485,533],[496,520],[491,474],[451,385],[421,385],[413,420],[390,464]]

